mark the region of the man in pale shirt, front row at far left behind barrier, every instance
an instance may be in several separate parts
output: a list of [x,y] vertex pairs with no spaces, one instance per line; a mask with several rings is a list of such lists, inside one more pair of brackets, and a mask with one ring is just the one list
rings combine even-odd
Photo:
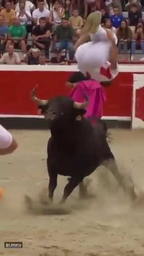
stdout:
[[17,53],[14,52],[14,46],[9,45],[7,48],[8,53],[4,53],[4,55],[0,59],[0,64],[9,64],[9,65],[19,65],[21,64],[21,60]]

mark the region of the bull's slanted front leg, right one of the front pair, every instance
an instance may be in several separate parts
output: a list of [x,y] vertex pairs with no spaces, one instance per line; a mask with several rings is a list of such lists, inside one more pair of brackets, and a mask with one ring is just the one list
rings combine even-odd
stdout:
[[68,196],[72,193],[73,189],[75,189],[84,179],[84,177],[72,177],[69,179],[69,183],[64,188],[63,198],[60,203],[64,203]]

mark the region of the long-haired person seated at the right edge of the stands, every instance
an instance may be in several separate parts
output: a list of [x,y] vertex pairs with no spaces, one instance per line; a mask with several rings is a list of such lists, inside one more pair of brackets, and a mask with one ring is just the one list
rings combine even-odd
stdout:
[[135,28],[131,45],[131,53],[135,53],[136,49],[141,49],[144,54],[144,24],[142,22],[139,22],[138,26]]

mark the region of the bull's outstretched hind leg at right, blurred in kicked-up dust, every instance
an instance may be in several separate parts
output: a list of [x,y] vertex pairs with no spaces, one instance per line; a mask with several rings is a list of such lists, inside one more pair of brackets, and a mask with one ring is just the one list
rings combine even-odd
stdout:
[[111,173],[116,178],[118,184],[123,188],[123,190],[129,195],[129,197],[134,200],[136,199],[136,194],[134,192],[134,183],[131,177],[123,176],[118,170],[116,161],[114,159],[110,159],[103,162],[103,165],[108,168]]

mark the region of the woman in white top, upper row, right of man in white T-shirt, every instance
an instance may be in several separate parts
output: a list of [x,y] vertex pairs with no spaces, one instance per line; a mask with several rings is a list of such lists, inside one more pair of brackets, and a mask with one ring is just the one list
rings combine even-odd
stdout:
[[55,1],[53,10],[50,12],[49,22],[52,24],[52,31],[54,32],[55,29],[59,24],[62,23],[62,18],[64,16],[64,9],[60,6],[59,1]]

